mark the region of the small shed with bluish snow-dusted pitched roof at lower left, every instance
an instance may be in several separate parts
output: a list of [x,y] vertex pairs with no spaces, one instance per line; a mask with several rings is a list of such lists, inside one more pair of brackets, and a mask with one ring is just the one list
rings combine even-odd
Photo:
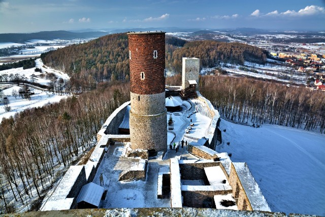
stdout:
[[81,191],[77,197],[77,203],[84,201],[98,207],[100,205],[103,193],[103,187],[93,182],[90,182],[88,184],[83,185],[83,187],[81,188]]

